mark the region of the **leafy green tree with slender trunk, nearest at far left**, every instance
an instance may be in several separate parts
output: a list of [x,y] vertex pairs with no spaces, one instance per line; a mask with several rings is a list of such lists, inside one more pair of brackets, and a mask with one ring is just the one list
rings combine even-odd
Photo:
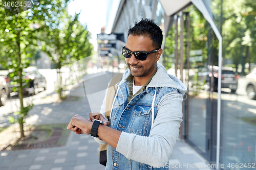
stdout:
[[[5,1],[0,3],[3,7]],[[23,1],[20,1],[23,2]],[[3,51],[0,53],[0,63],[5,67],[12,68],[11,77],[18,77],[14,83],[18,84],[18,96],[20,101],[20,111],[18,123],[20,126],[20,136],[24,137],[23,124],[28,116],[31,105],[25,107],[23,98],[24,84],[28,81],[24,79],[24,68],[29,66],[29,58],[34,56],[41,46],[38,45],[40,36],[50,29],[60,27],[60,20],[63,19],[63,11],[67,9],[68,0],[50,1],[42,0],[40,4],[33,1],[31,9],[25,10],[23,7],[18,9],[0,8],[0,46]],[[24,12],[22,12],[24,11]],[[51,23],[51,27],[49,27]],[[48,37],[44,37],[45,39]]]

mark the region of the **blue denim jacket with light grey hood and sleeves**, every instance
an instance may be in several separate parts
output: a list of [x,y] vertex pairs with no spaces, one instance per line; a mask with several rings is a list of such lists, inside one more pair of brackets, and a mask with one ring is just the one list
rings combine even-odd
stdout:
[[[126,105],[129,82],[125,79],[130,74],[126,69],[117,84],[110,122],[111,128],[122,133],[116,149],[108,146],[106,169],[168,169],[178,140],[187,88],[157,63],[157,72],[146,89]],[[105,100],[100,110],[103,115]]]

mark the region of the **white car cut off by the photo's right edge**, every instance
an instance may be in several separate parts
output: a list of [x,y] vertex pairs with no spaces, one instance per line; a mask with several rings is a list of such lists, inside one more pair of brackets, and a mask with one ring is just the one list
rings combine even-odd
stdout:
[[256,68],[245,76],[247,80],[246,92],[249,99],[256,99]]

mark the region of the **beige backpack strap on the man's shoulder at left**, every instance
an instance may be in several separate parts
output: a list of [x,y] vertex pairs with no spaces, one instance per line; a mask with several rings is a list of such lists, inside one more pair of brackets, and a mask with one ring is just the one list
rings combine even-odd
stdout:
[[116,90],[118,86],[116,85],[122,80],[123,74],[122,73],[117,73],[114,75],[112,80],[110,81],[108,93],[106,94],[106,107],[105,107],[105,116],[110,120],[110,112],[111,112],[111,107],[112,103],[116,94]]

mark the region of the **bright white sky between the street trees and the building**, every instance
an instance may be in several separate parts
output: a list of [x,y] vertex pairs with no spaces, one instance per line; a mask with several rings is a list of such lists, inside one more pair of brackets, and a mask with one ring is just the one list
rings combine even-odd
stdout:
[[95,51],[97,34],[100,34],[100,29],[106,25],[106,8],[106,0],[74,0],[68,6],[70,15],[81,11],[79,20],[87,24],[88,31],[92,34],[90,42],[94,45]]

